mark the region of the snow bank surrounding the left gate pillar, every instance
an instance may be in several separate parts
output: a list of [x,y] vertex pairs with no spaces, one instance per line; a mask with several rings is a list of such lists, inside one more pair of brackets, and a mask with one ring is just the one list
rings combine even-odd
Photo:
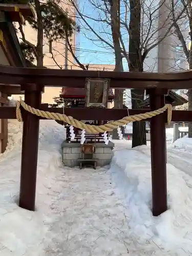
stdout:
[[[49,179],[60,164],[59,147],[63,127],[55,121],[40,121],[36,206],[26,211],[17,206],[20,179],[22,123],[9,121],[7,150],[0,157],[0,255],[42,255],[42,242],[49,228],[46,211],[49,204]],[[45,138],[46,136],[46,138]],[[29,163],[30,164],[30,163]],[[38,248],[38,249],[37,249]]]

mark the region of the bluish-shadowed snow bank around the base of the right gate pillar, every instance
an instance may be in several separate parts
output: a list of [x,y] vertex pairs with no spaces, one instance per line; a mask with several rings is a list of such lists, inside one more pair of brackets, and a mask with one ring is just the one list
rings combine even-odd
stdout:
[[150,147],[115,151],[111,170],[124,195],[132,232],[140,237],[138,243],[148,247],[155,243],[158,255],[192,253],[192,178],[167,164],[169,210],[153,217]]

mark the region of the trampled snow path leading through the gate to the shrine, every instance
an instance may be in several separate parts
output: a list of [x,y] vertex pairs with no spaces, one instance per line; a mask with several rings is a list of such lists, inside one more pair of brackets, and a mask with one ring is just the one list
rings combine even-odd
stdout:
[[134,246],[109,169],[60,168],[59,172],[51,205],[55,222],[48,232],[55,236],[46,255],[127,256]]

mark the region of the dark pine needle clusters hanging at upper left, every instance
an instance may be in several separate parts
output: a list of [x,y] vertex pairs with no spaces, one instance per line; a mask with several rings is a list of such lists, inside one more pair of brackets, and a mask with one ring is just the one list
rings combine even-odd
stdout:
[[[35,8],[34,0],[0,0],[1,4],[31,4]],[[40,10],[42,14],[42,24],[44,29],[44,38],[46,41],[57,41],[59,39],[65,39],[66,36],[71,36],[74,31],[79,31],[79,27],[76,26],[74,20],[68,17],[65,10],[63,10],[59,4],[60,0],[45,0],[40,2]],[[38,21],[35,18],[27,17],[25,20],[35,30],[38,30]],[[24,56],[27,61],[34,63],[35,49],[30,44],[22,42],[20,44]]]

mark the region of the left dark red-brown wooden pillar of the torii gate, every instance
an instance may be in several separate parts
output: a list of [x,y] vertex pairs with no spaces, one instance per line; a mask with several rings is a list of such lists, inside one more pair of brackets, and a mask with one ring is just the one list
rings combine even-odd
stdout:
[[[25,102],[33,108],[39,109],[41,103],[42,86],[30,84],[25,89]],[[22,88],[21,88],[22,90]],[[24,111],[23,141],[22,141],[22,165],[20,173],[19,206],[27,210],[35,210],[35,192],[37,175],[37,155],[39,118]]]

